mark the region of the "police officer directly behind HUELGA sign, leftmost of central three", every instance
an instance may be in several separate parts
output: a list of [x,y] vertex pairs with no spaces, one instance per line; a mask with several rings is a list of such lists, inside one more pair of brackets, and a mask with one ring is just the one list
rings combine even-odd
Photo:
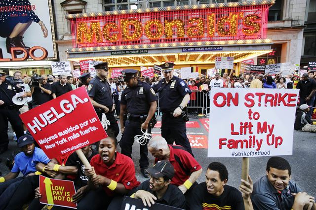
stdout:
[[96,76],[91,79],[88,85],[88,94],[92,105],[101,120],[102,113],[105,113],[110,125],[107,130],[111,130],[115,137],[118,136],[119,129],[116,118],[114,117],[115,105],[113,104],[110,85],[107,81],[109,74],[108,63],[100,63],[93,66]]

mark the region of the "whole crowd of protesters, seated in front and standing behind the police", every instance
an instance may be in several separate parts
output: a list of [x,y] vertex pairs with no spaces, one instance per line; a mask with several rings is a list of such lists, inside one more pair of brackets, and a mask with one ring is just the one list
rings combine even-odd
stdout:
[[[0,72],[1,79],[5,73]],[[169,75],[169,74],[168,74]],[[20,108],[20,113],[42,105],[80,86],[89,90],[90,74],[82,74],[75,79],[68,75],[41,75],[39,79],[23,75],[20,71],[13,74],[14,81],[20,82],[28,97]],[[154,87],[163,77],[137,77]],[[4,81],[2,81],[4,82]],[[1,83],[2,83],[1,82]],[[113,103],[119,118],[122,93],[127,88],[122,77],[108,80]],[[190,88],[191,101],[198,101],[198,92],[207,93],[214,87],[220,88],[279,88],[300,89],[300,106],[295,121],[295,130],[316,132],[311,119],[316,100],[316,72],[309,71],[298,75],[234,75],[233,71],[222,75],[184,79]],[[1,85],[0,83],[0,85]],[[181,84],[182,85],[182,84]],[[184,85],[183,85],[184,86]],[[152,90],[152,89],[151,89]],[[125,100],[125,99],[124,99]],[[0,100],[1,101],[1,100]],[[122,115],[121,115],[122,116]],[[7,132],[7,128],[6,132]],[[15,131],[16,132],[16,131]],[[39,191],[39,175],[51,178],[73,180],[77,193],[73,201],[78,209],[119,209],[122,196],[141,199],[145,206],[155,203],[187,210],[234,209],[234,210],[316,210],[314,197],[303,192],[290,179],[290,164],[281,157],[269,159],[266,175],[253,181],[250,176],[241,180],[239,190],[227,185],[228,170],[219,162],[212,162],[204,169],[205,182],[197,183],[202,168],[192,151],[182,146],[168,144],[164,138],[149,140],[148,151],[155,157],[155,165],[145,169],[147,181],[140,183],[135,175],[134,161],[118,152],[117,135],[108,133],[109,138],[101,140],[97,147],[91,145],[81,148],[92,168],[84,169],[76,153],[70,156],[48,159],[24,127],[24,134],[16,135],[21,152],[11,161],[11,172],[0,177],[0,209],[19,210],[24,204],[28,209],[42,209]],[[7,145],[0,153],[7,150]],[[18,177],[19,173],[23,176]],[[145,176],[145,177],[146,177]],[[65,209],[62,207],[53,207]]]

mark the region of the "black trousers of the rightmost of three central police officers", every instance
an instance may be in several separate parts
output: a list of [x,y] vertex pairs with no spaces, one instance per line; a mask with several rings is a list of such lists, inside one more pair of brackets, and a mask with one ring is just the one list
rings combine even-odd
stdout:
[[190,154],[193,155],[189,139],[187,137],[186,122],[182,117],[173,117],[171,114],[162,114],[161,118],[161,136],[168,144],[183,146]]

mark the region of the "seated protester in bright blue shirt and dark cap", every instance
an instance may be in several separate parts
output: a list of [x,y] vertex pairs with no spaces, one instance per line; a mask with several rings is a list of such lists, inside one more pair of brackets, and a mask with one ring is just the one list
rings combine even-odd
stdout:
[[[33,176],[37,171],[37,163],[47,164],[49,158],[38,147],[35,147],[34,139],[30,135],[24,135],[18,139],[18,147],[22,152],[14,158],[14,165],[11,172],[0,177],[0,209],[4,209],[9,203],[15,190],[26,176]],[[23,176],[17,177],[20,172]]]

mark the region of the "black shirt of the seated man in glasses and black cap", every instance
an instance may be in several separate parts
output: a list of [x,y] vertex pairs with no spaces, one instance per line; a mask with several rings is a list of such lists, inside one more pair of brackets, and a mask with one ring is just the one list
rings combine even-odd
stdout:
[[[156,196],[155,192],[153,192],[149,187],[149,180],[146,180],[143,183],[141,183],[137,188],[133,189],[130,192],[130,194],[133,194],[137,192],[138,190],[145,190]],[[169,184],[168,189],[164,193],[163,197],[155,201],[155,203],[184,209],[186,205],[186,199],[183,193],[181,192],[181,190],[177,186],[173,184]]]

